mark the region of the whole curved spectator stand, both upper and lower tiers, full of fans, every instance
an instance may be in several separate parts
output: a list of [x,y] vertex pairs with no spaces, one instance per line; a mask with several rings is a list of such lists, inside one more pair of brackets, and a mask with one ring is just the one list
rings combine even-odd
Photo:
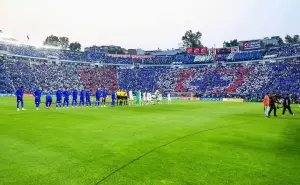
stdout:
[[[109,93],[119,87],[127,90],[193,92],[204,97],[262,97],[266,92],[292,92],[300,96],[299,44],[215,56],[109,55],[9,44],[0,44],[0,50],[10,54],[5,60],[0,60],[0,93],[12,93],[16,87],[24,85],[26,93],[32,93],[38,86],[53,93],[62,86],[77,89],[88,87],[92,93],[97,87],[105,87]],[[40,59],[25,59],[26,56]],[[58,57],[60,62],[48,61],[45,59],[48,56]],[[274,63],[250,62],[261,60],[264,56],[292,58],[279,58]],[[229,63],[219,64],[219,61]],[[102,64],[93,65],[94,62]],[[172,63],[176,62],[179,66],[181,63],[199,65],[174,68]],[[146,66],[135,68],[133,65]]]

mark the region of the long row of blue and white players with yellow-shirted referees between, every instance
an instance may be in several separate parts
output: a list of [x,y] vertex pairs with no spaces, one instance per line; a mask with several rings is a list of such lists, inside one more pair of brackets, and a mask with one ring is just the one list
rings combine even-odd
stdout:
[[[36,110],[39,110],[39,106],[41,104],[41,97],[42,97],[42,88],[37,89],[34,93],[35,97],[35,105],[36,105]],[[162,94],[159,91],[155,92],[156,97],[157,97],[157,103],[161,104],[162,103]],[[24,87],[21,86],[20,88],[17,89],[15,93],[17,97],[17,111],[20,110],[20,104],[22,106],[22,110],[24,109],[24,101],[23,101],[23,95],[24,95]],[[79,95],[79,103],[77,102]],[[142,92],[137,91],[136,92],[136,104],[137,105],[147,105],[147,104],[154,104],[154,101],[152,99],[152,94],[150,91],[148,92],[143,92],[143,99],[141,97]],[[56,109],[60,108],[69,108],[69,99],[71,96],[71,93],[69,91],[69,88],[66,88],[64,91],[62,90],[62,87],[59,87],[58,90],[56,91]],[[46,92],[46,108],[50,109],[51,104],[52,104],[52,96]],[[96,101],[95,101],[95,107],[106,107],[106,98],[107,98],[107,90],[100,89],[98,88],[95,93]],[[64,98],[64,99],[63,99]],[[102,98],[102,99],[101,99]],[[128,101],[129,99],[129,101]],[[170,93],[167,96],[168,99],[168,104],[171,104],[171,96]],[[128,92],[125,90],[118,90],[117,92],[112,91],[111,94],[111,106],[114,107],[115,105],[133,105],[134,104],[134,98],[133,98],[133,91],[132,89]],[[78,92],[76,89],[73,89],[72,91],[72,108],[80,106],[92,106],[91,102],[91,92],[88,88],[85,90],[82,89],[80,92]]]

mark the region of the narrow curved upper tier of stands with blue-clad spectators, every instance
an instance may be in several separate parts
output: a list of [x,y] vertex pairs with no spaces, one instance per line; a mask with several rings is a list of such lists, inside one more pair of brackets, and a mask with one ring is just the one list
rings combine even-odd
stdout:
[[208,64],[215,62],[239,62],[260,60],[274,57],[288,57],[300,55],[300,44],[272,47],[267,50],[247,51],[231,54],[213,55],[173,55],[173,56],[131,56],[131,55],[110,55],[93,52],[72,52],[69,50],[37,48],[28,45],[15,45],[0,43],[0,51],[10,55],[25,57],[55,58],[58,60],[76,62],[99,62],[109,64],[142,64],[142,65],[169,65],[174,63],[182,64]]

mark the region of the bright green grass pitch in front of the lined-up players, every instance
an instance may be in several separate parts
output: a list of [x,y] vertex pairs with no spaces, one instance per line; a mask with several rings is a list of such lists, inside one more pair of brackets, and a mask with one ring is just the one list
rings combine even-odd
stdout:
[[300,184],[298,106],[271,119],[260,103],[25,108],[0,98],[1,185]]

